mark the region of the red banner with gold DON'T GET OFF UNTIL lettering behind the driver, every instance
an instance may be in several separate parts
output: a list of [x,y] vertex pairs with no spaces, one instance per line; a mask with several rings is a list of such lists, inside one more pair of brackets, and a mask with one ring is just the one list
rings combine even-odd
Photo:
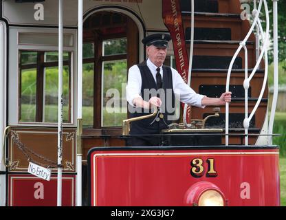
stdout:
[[[179,72],[184,82],[188,83],[188,52],[186,50],[179,0],[162,0],[162,13],[164,24],[172,38],[177,72]],[[184,103],[182,103],[182,107],[184,109]],[[190,106],[187,109],[187,122],[189,122],[189,118]]]

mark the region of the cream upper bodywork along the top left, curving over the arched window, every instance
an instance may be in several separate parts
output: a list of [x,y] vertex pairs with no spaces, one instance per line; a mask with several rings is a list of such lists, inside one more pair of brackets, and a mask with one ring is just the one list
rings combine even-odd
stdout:
[[[1,17],[10,25],[54,26],[58,25],[58,0],[2,1]],[[37,4],[41,5],[37,5]],[[42,8],[40,8],[42,7]],[[78,24],[78,0],[63,1],[63,23],[65,28],[76,28]],[[35,19],[39,10],[44,11],[43,20]],[[131,17],[137,24],[144,23],[146,30],[165,31],[162,19],[162,1],[83,1],[84,19],[95,12],[107,10]]]

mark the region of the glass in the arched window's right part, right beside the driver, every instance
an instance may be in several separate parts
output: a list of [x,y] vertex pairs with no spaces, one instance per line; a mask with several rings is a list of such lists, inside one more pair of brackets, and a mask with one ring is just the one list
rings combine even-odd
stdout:
[[127,81],[126,38],[102,42],[101,126],[122,126],[127,118],[124,91]]

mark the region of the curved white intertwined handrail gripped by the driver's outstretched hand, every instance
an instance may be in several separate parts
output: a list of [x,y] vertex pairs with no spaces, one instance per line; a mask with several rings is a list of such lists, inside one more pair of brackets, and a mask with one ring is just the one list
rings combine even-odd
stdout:
[[[266,34],[264,36],[263,29],[261,26],[261,21],[259,20],[259,14],[261,12],[261,7],[262,3],[265,6],[265,14],[266,14]],[[254,5],[256,6],[256,2],[254,1]],[[245,80],[243,82],[243,86],[245,89],[245,120],[243,121],[243,126],[245,128],[245,144],[248,145],[248,129],[250,125],[250,120],[252,119],[255,111],[259,107],[259,104],[261,102],[263,93],[265,91],[266,87],[266,82],[267,82],[267,74],[268,74],[268,56],[267,56],[267,46],[268,46],[268,36],[269,36],[269,14],[268,14],[268,7],[267,7],[267,2],[265,0],[260,0],[259,1],[259,8],[256,10],[254,8],[253,14],[255,15],[254,21],[252,23],[252,26],[250,27],[250,30],[248,34],[245,36],[245,39],[239,44],[238,49],[236,50],[234,56],[232,57],[232,61],[230,62],[230,66],[228,68],[228,76],[226,79],[226,86],[225,86],[225,91],[229,91],[230,87],[230,75],[231,75],[231,70],[234,64],[234,61],[236,57],[238,56],[239,52],[241,51],[242,48],[245,50]],[[247,55],[247,48],[245,47],[246,41],[249,39],[250,34],[253,32],[254,27],[257,26],[259,27],[259,30],[262,35],[262,41],[263,41],[263,49],[261,50],[261,54],[259,55],[259,58],[256,60],[256,65],[254,66],[254,69],[252,70],[252,73],[248,77],[248,56]],[[250,116],[248,117],[248,88],[250,86],[250,80],[252,80],[252,77],[256,73],[256,70],[259,68],[259,65],[261,63],[261,60],[263,58],[263,55],[265,56],[265,74],[264,74],[264,80],[263,80],[263,86],[261,89],[261,94],[259,95],[259,99],[257,100],[254,109],[252,110],[252,113],[250,113]],[[225,103],[225,145],[228,146],[228,133],[229,133],[229,103]]]

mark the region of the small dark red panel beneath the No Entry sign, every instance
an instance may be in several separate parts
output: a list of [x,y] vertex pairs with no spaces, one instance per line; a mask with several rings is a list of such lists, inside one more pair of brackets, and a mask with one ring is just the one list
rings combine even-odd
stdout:
[[[29,174],[9,175],[9,206],[56,206],[57,175],[50,181]],[[76,175],[63,175],[63,206],[76,205]]]

